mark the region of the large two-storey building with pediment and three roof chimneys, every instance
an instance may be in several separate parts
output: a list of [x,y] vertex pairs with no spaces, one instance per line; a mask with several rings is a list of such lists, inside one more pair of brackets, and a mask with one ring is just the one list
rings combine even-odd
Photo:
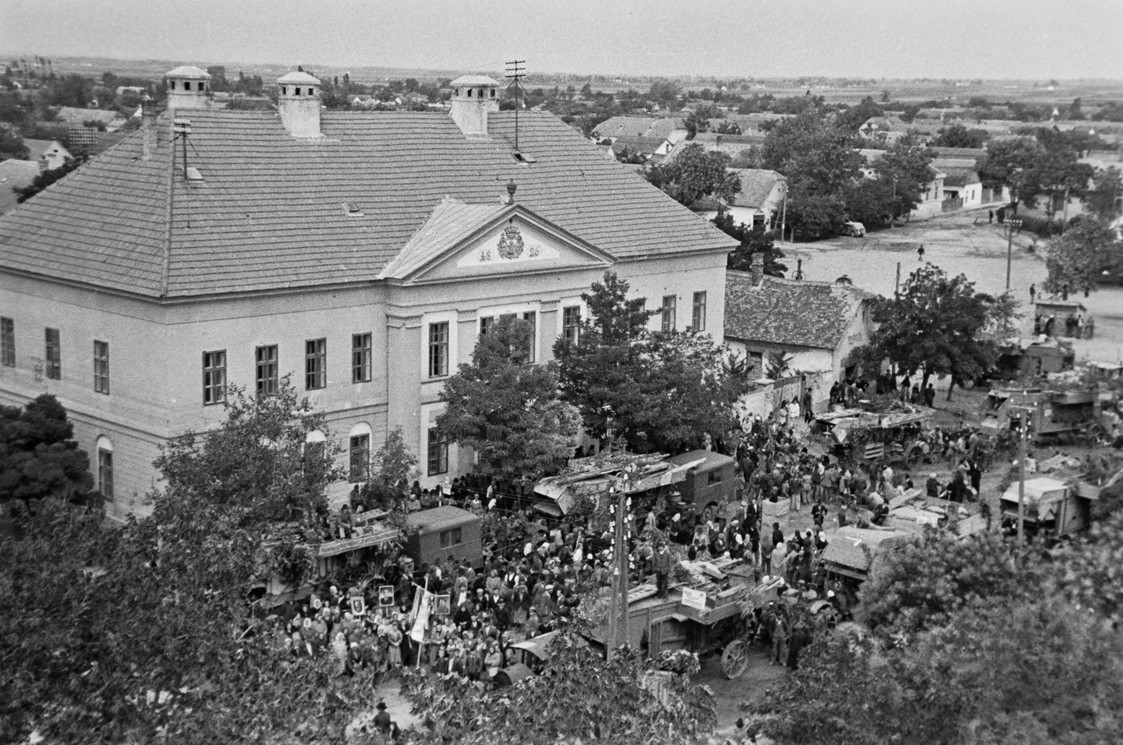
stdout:
[[0,219],[0,402],[58,396],[113,516],[228,385],[286,375],[350,481],[398,426],[422,486],[464,473],[445,380],[499,318],[548,360],[609,269],[722,337],[736,241],[553,114],[500,112],[491,79],[446,113],[323,110],[303,74],[275,110],[212,110],[204,72],[167,77],[172,110]]

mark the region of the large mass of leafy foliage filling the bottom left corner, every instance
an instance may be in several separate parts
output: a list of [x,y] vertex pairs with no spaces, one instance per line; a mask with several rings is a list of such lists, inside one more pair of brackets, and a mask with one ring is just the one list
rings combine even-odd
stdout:
[[265,516],[320,504],[332,478],[302,477],[309,463],[290,447],[313,423],[287,385],[235,402],[221,427],[162,459],[167,487],[149,517],[109,527],[100,509],[48,499],[22,540],[0,542],[0,741],[341,737],[374,703],[369,677],[291,661],[246,597],[280,530]]

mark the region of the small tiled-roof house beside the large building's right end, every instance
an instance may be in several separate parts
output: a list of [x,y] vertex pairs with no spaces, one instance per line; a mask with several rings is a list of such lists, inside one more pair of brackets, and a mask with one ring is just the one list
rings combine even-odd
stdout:
[[760,365],[766,355],[791,355],[798,372],[834,380],[852,372],[850,352],[869,341],[873,293],[842,283],[784,279],[751,272],[725,277],[725,343]]

